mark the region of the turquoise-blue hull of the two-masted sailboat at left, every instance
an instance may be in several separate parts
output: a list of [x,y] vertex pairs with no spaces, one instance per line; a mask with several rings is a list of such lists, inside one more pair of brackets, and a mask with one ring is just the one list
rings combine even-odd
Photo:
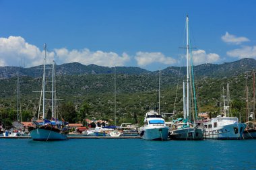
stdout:
[[30,136],[33,140],[66,140],[67,134],[61,134],[51,130],[36,128],[30,131]]

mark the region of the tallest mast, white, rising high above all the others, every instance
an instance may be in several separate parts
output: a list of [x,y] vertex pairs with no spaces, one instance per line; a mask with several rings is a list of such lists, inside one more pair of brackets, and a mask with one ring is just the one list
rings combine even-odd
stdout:
[[187,15],[186,25],[187,25],[187,118],[189,118],[189,15]]

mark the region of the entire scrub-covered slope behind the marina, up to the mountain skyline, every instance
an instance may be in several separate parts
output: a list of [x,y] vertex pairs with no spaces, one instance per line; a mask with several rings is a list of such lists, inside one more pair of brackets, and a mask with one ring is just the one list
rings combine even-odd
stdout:
[[[27,121],[38,112],[42,86],[42,71],[33,68],[0,67],[0,118],[5,124],[17,116],[17,71],[20,73],[22,120]],[[195,88],[199,112],[220,114],[223,108],[223,87],[230,83],[232,116],[245,120],[245,85],[249,87],[252,106],[253,76],[256,61],[245,58],[222,65],[195,66]],[[83,122],[84,118],[114,120],[114,69],[77,62],[57,66],[58,111],[69,122]],[[185,67],[168,67],[161,72],[160,111],[181,113]],[[49,73],[49,78],[50,78]],[[117,116],[121,122],[142,122],[147,110],[156,108],[158,101],[158,71],[136,67],[117,67]],[[48,82],[51,84],[51,82]],[[177,86],[178,85],[178,86]],[[46,86],[51,91],[51,85]],[[177,89],[178,87],[178,89]],[[177,95],[177,97],[176,97]],[[51,99],[51,93],[46,97]],[[176,102],[175,102],[176,101]],[[174,110],[175,103],[175,110]],[[51,112],[50,101],[46,102]]]

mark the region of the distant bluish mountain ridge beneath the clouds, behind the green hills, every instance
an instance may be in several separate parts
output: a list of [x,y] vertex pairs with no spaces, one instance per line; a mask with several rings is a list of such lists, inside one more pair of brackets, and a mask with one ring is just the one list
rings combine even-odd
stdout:
[[[51,68],[51,65],[46,67]],[[41,66],[23,68],[23,67],[0,67],[0,79],[8,79],[17,76],[19,71],[20,76],[42,77]],[[181,71],[179,71],[181,69]],[[236,76],[246,71],[256,69],[256,60],[253,58],[243,58],[234,62],[225,62],[221,65],[203,64],[193,67],[195,75],[199,77],[230,77]],[[102,67],[98,65],[82,65],[79,62],[71,62],[68,64],[57,65],[56,75],[99,75],[113,74],[113,67]],[[142,75],[156,74],[158,71],[147,71],[139,67],[117,67],[117,74],[127,75]],[[185,75],[186,67],[167,67],[162,70],[164,75]]]

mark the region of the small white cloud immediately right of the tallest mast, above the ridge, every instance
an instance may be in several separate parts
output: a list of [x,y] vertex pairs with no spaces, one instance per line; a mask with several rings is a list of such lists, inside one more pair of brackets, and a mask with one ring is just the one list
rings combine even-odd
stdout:
[[192,51],[193,64],[201,65],[203,63],[212,63],[220,60],[220,56],[216,53],[206,54],[205,50]]

